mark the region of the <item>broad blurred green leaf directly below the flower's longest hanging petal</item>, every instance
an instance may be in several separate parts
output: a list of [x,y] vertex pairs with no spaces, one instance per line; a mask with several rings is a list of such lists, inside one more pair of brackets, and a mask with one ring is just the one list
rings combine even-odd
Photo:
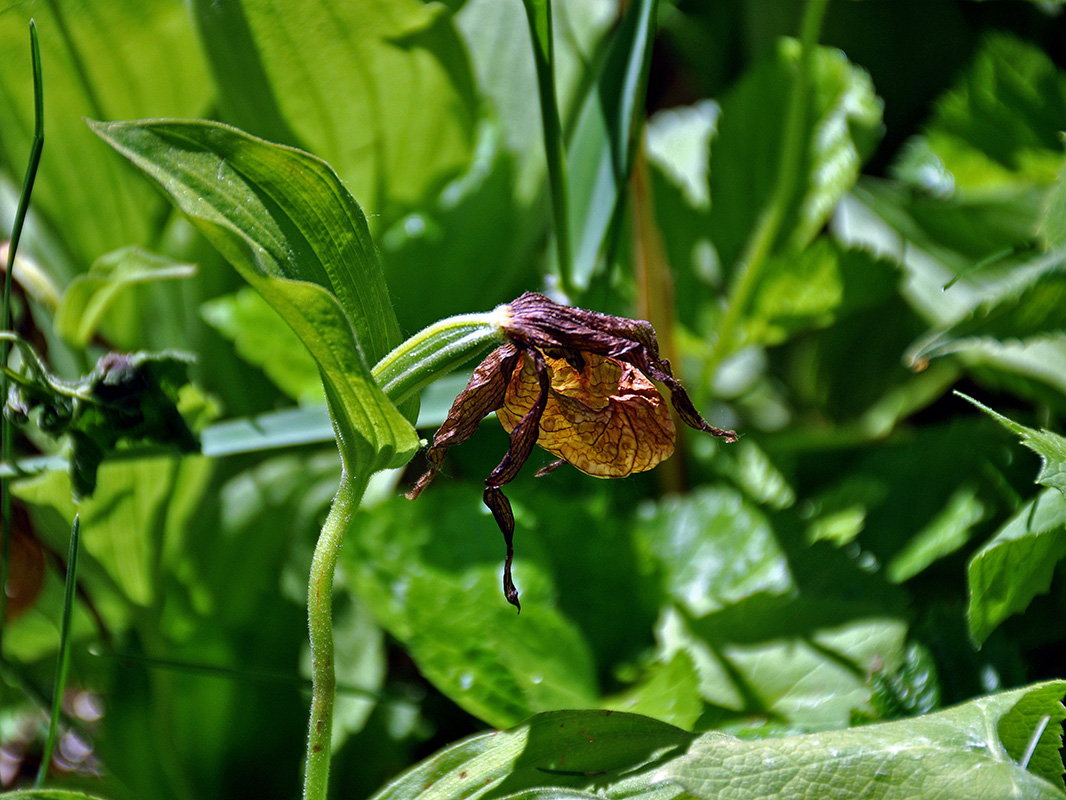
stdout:
[[489,724],[594,704],[588,645],[556,608],[535,529],[512,498],[516,617],[500,582],[502,537],[481,494],[437,485],[360,512],[340,556],[348,585],[437,688]]

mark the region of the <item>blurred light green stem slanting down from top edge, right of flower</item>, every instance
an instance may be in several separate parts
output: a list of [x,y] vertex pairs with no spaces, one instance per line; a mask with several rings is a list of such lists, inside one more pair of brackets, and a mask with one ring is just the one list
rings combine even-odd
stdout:
[[792,84],[792,93],[789,96],[789,106],[785,116],[777,181],[766,207],[756,222],[741,260],[737,265],[738,277],[722,318],[722,324],[718,326],[717,346],[714,348],[709,364],[708,371],[712,377],[718,365],[732,355],[740,343],[738,336],[741,319],[747,310],[756,287],[759,285],[762,268],[777,243],[781,223],[785,221],[789,204],[795,194],[803,158],[804,128],[807,124],[808,94],[814,50],[818,47],[818,35],[822,29],[822,20],[825,18],[827,5],[828,0],[808,0],[804,12],[803,29],[800,35],[800,63],[796,67],[795,80]]

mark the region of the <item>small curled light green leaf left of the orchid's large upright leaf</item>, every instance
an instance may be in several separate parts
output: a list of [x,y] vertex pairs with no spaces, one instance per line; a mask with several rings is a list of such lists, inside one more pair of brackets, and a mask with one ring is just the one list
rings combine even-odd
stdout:
[[191,277],[195,270],[191,263],[178,263],[138,246],[102,255],[63,292],[55,309],[55,330],[67,341],[84,347],[126,290],[138,284]]

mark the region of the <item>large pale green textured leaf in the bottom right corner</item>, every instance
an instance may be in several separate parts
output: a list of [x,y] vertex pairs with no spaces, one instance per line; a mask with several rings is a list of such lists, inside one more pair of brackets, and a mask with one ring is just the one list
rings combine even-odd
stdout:
[[[1061,799],[1059,721],[1066,682],[980,698],[915,719],[745,741],[705,734],[660,780],[700,800],[863,797]],[[1018,764],[1040,716],[1050,717],[1030,769]]]

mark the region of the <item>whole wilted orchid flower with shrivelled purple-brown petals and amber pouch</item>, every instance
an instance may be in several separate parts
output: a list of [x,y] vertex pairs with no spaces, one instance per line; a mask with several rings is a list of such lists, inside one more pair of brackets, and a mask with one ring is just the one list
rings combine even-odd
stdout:
[[511,578],[515,517],[501,487],[518,475],[533,445],[560,457],[538,476],[564,462],[597,478],[650,469],[671,457],[675,438],[669,412],[651,381],[669,389],[685,425],[726,442],[736,442],[737,434],[699,416],[669,363],[659,355],[649,323],[571,308],[535,292],[498,311],[508,342],[488,354],[455,398],[426,451],[429,466],[407,497],[418,497],[448,448],[470,438],[495,411],[511,445],[485,479],[485,505],[506,542],[503,592],[520,608]]

